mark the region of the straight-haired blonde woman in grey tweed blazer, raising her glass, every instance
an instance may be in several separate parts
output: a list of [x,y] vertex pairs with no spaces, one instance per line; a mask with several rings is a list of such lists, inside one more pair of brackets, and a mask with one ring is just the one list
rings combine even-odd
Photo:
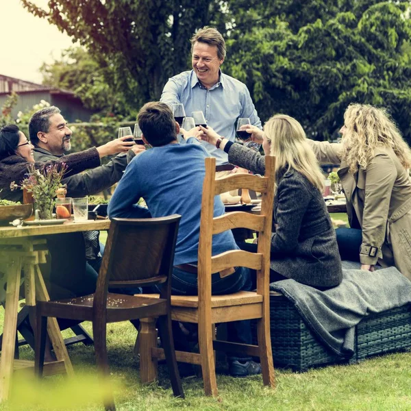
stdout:
[[[228,153],[228,160],[264,174],[264,155],[201,127],[203,140]],[[247,129],[276,157],[275,229],[271,237],[271,280],[292,278],[317,288],[340,284],[343,273],[336,234],[321,194],[323,175],[299,122],[277,114]],[[252,245],[245,245],[251,247]]]

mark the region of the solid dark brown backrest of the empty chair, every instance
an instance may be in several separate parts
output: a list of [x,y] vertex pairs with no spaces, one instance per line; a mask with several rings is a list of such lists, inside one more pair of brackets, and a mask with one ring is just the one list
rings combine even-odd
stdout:
[[108,286],[161,284],[171,277],[181,216],[158,219],[112,219],[96,296]]

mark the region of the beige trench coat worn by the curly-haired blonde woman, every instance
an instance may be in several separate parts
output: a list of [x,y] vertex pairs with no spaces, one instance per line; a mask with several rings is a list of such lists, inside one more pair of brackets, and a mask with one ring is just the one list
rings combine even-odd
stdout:
[[366,170],[353,175],[342,145],[308,141],[319,162],[340,164],[349,223],[356,217],[362,229],[362,264],[395,265],[411,279],[411,179],[393,149],[376,149]]

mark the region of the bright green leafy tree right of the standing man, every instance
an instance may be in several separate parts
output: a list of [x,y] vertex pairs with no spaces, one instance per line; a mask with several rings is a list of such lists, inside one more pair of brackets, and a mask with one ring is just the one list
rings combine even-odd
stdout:
[[[307,7],[317,3],[326,2]],[[263,118],[290,114],[314,138],[329,138],[347,105],[360,102],[388,107],[411,142],[408,3],[338,3],[340,11],[314,20],[303,2],[296,14],[309,23],[298,30],[292,12],[290,21],[273,16],[264,27],[233,30],[230,72],[247,83]]]

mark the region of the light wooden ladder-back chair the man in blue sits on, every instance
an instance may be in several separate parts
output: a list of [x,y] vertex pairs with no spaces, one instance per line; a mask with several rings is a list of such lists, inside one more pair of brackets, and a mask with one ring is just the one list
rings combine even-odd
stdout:
[[[266,155],[264,177],[234,174],[215,179],[215,158],[206,158],[206,177],[203,183],[201,203],[201,227],[198,255],[197,296],[172,296],[172,319],[197,323],[199,328],[199,353],[176,351],[177,361],[201,365],[206,395],[218,395],[216,385],[214,349],[259,356],[264,385],[274,386],[274,367],[270,338],[269,271],[271,248],[271,224],[275,183],[275,158]],[[213,219],[214,196],[234,188],[248,188],[262,193],[260,215],[246,212],[230,212]],[[233,250],[212,256],[212,236],[227,229],[245,227],[258,232],[258,252]],[[236,292],[232,295],[211,294],[211,275],[233,266],[245,266],[257,271],[256,292]],[[151,296],[153,297],[153,296]],[[230,321],[257,319],[258,346],[241,345],[215,340],[214,325]],[[150,320],[151,321],[151,320]],[[146,321],[149,322],[149,321]],[[151,332],[155,332],[151,321]],[[155,338],[151,338],[155,340]],[[151,353],[150,353],[151,351]],[[147,362],[150,375],[141,375],[145,382],[155,376],[156,359],[164,358],[162,349],[152,346],[143,352],[140,361]]]

